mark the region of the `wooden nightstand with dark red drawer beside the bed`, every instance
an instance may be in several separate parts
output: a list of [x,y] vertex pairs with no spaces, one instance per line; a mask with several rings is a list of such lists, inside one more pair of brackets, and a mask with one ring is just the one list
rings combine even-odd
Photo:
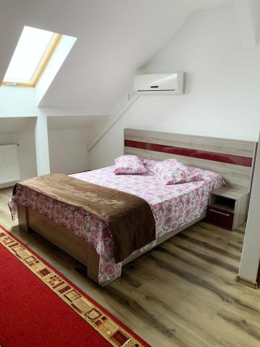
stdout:
[[220,187],[209,196],[206,221],[228,230],[245,223],[249,192],[242,189]]

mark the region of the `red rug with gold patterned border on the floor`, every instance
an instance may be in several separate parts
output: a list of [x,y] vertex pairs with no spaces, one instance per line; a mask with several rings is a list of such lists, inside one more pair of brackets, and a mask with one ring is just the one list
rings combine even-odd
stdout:
[[0,346],[149,346],[0,226]]

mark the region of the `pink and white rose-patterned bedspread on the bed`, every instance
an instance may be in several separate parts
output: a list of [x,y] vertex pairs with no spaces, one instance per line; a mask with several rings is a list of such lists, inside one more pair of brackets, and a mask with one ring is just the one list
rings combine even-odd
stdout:
[[[114,167],[71,176],[144,198],[153,211],[156,237],[159,237],[200,217],[207,207],[209,192],[224,184],[218,174],[211,171],[204,172],[203,180],[179,185],[163,185],[162,181],[150,171],[141,175],[115,175]],[[86,239],[96,248],[100,255],[99,283],[121,276],[122,264],[116,264],[114,261],[112,236],[105,221],[80,208],[56,201],[21,185],[17,186],[17,194],[9,201],[12,219],[17,218],[16,203],[44,214],[60,226]],[[135,253],[141,253],[152,244]]]

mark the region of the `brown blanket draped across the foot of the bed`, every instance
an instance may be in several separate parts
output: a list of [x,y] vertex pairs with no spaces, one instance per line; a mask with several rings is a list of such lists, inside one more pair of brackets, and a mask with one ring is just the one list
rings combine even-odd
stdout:
[[[114,242],[116,262],[155,240],[155,219],[150,205],[139,196],[64,174],[29,178],[19,183],[36,192],[77,206],[107,222]],[[14,194],[16,187],[14,189]]]

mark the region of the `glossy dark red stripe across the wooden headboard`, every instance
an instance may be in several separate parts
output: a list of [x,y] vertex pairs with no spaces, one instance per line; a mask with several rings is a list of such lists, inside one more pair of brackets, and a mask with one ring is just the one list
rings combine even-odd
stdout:
[[125,139],[125,146],[135,149],[146,149],[148,151],[171,153],[184,155],[186,157],[213,160],[214,162],[226,162],[227,164],[236,164],[243,167],[252,167],[252,158],[243,157],[241,155],[200,151],[198,149],[184,149],[181,147],[167,146],[166,144],[150,144],[149,142],[132,141],[132,139]]

